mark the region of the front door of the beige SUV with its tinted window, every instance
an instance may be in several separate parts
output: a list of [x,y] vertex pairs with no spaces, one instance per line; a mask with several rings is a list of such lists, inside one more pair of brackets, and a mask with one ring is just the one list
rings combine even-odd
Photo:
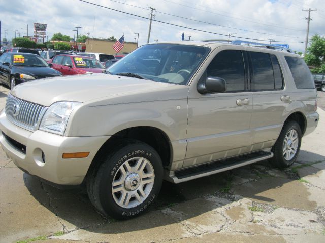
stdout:
[[[187,151],[183,167],[236,156],[250,150],[252,93],[247,91],[247,74],[241,50],[215,50],[206,77],[223,78],[227,92],[198,94],[195,84],[189,92]],[[191,87],[193,87],[191,85]]]

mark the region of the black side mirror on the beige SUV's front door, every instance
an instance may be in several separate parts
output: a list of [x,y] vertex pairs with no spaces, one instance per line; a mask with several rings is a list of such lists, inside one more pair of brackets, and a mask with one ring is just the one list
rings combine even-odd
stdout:
[[204,82],[198,83],[198,92],[201,94],[224,93],[227,90],[226,82],[220,77],[207,77]]

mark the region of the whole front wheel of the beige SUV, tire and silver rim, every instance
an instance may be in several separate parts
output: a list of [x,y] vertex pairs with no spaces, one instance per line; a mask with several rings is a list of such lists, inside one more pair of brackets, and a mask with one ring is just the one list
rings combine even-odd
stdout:
[[146,211],[163,182],[163,163],[156,150],[137,140],[123,140],[98,159],[100,165],[87,178],[95,208],[117,219]]

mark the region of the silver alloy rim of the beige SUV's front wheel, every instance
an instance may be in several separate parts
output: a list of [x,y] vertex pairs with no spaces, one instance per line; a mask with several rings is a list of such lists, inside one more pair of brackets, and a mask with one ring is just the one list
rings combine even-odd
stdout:
[[134,157],[126,160],[117,170],[112,194],[115,203],[125,209],[137,207],[150,194],[154,183],[154,170],[149,160]]

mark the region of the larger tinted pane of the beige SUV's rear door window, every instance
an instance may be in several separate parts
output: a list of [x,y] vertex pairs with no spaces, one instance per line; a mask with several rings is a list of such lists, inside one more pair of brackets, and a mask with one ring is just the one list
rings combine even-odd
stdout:
[[251,57],[251,89],[273,90],[274,76],[268,53],[249,52]]

